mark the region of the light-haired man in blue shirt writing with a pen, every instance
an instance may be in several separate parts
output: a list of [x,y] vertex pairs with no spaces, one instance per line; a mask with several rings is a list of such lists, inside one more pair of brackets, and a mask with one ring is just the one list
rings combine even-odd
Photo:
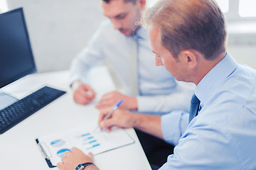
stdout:
[[[136,127],[176,142],[174,154],[161,170],[256,169],[256,71],[238,64],[226,51],[225,18],[218,4],[214,0],[159,0],[144,13],[144,23],[156,65],[164,65],[177,80],[196,84],[189,117],[181,118],[186,118],[188,127],[177,133],[182,127],[173,125],[178,111],[153,116],[122,110],[107,120],[102,120],[106,115],[102,112],[100,127]],[[92,162],[92,157],[81,153],[80,159],[76,152],[80,150],[70,152],[58,167]],[[70,157],[75,161],[66,162]]]

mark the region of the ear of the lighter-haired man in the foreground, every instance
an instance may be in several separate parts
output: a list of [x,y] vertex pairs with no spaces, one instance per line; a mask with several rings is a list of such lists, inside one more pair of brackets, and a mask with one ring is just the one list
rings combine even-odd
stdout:
[[[181,57],[183,62],[186,62],[189,68],[193,69],[198,64],[198,57],[196,52],[193,50],[183,50],[181,51]],[[181,60],[181,59],[180,59]]]

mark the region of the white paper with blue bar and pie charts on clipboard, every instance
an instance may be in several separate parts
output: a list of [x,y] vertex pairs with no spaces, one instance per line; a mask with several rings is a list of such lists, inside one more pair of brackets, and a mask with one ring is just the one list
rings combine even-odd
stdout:
[[38,137],[36,142],[48,166],[55,167],[64,153],[70,151],[72,147],[77,147],[86,154],[92,152],[96,155],[134,143],[132,137],[122,128],[112,128],[111,132],[107,132],[107,130],[92,130],[92,127],[95,125]]

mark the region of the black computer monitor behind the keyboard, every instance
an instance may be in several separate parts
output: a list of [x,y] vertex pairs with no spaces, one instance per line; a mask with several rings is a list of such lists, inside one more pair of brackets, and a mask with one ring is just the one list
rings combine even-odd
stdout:
[[0,88],[36,72],[22,8],[0,14]]

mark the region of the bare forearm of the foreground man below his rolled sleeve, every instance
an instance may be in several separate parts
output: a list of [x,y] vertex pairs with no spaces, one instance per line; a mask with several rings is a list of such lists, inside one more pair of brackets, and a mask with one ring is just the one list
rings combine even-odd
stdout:
[[147,132],[156,137],[163,138],[161,132],[161,116],[133,113],[131,115],[134,128]]

